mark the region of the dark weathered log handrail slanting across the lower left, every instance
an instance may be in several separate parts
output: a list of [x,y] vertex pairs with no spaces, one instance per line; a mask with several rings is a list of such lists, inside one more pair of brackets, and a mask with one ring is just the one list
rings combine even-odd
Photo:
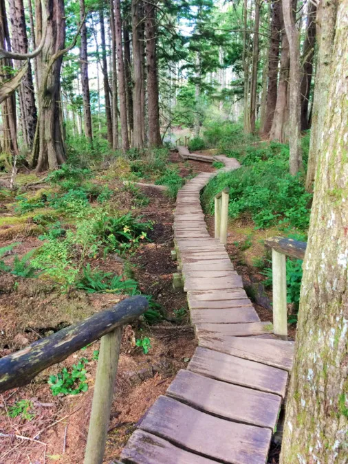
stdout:
[[138,318],[148,308],[144,296],[127,298],[110,309],[38,340],[26,348],[0,359],[0,393],[28,384],[45,368],[103,335]]

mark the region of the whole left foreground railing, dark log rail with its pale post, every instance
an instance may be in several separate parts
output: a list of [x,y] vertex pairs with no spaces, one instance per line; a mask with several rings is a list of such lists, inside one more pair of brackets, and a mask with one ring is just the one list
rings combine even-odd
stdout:
[[2,357],[0,393],[28,384],[45,368],[65,360],[101,337],[84,461],[85,464],[101,464],[120,355],[122,326],[138,318],[148,306],[144,296],[127,298],[110,309]]

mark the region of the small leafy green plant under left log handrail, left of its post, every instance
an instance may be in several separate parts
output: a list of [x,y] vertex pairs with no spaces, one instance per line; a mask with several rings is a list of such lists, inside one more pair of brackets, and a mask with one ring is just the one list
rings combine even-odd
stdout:
[[77,364],[73,364],[71,371],[64,367],[61,373],[50,375],[48,384],[52,395],[78,395],[80,392],[86,392],[88,390],[85,368],[87,363],[88,360],[81,357]]

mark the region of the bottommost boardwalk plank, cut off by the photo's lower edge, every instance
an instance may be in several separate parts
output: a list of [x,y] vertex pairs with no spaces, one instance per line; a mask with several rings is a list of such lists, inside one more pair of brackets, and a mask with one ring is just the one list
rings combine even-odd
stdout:
[[177,448],[168,441],[144,430],[135,430],[120,456],[122,462],[134,464],[212,464],[198,454]]

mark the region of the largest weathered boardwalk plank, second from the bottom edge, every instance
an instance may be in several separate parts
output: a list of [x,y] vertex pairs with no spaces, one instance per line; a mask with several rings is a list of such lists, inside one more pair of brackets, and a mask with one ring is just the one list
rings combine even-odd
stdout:
[[268,428],[225,421],[168,397],[155,401],[140,428],[224,463],[264,464],[271,439]]

